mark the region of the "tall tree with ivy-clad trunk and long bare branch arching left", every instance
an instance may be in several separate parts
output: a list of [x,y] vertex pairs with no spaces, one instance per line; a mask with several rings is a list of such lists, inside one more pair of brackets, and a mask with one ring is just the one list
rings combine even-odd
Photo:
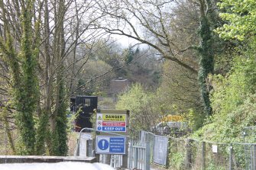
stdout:
[[[193,74],[198,74],[206,114],[212,113],[209,90],[206,87],[207,76],[214,71],[215,50],[213,49],[212,29],[215,21],[212,20],[214,18],[212,16],[215,14],[215,9],[211,1],[105,2],[101,3],[99,8],[102,8],[102,12],[108,16],[107,22],[99,24],[99,28],[105,29],[110,34],[131,37],[140,43],[145,43],[157,50],[160,57],[170,59]],[[177,19],[178,16],[186,15],[180,12],[179,8],[191,14],[190,21],[184,19],[180,22]],[[188,30],[184,23],[191,25],[189,28],[192,28],[194,32]],[[196,27],[199,25],[199,38],[195,38]],[[189,35],[190,38],[185,38],[184,34]],[[186,52],[191,53],[192,49],[198,51],[199,59],[193,55],[190,57],[183,55]]]

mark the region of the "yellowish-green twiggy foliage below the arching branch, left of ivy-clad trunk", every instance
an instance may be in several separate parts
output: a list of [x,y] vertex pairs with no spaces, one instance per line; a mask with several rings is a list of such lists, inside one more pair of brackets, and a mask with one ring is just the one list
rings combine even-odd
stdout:
[[164,63],[162,82],[155,95],[162,115],[203,112],[197,74],[169,60]]

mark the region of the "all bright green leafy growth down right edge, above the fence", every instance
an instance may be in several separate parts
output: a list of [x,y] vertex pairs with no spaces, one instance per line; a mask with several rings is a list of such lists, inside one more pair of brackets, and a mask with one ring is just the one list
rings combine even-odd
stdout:
[[196,135],[204,140],[231,143],[241,141],[241,131],[255,123],[255,36],[251,29],[254,27],[251,21],[254,20],[255,2],[223,0],[219,6],[224,12],[220,16],[227,23],[216,32],[225,40],[234,40],[236,49],[232,56],[235,57],[228,74],[210,77],[213,86],[210,98],[214,112],[212,123]]

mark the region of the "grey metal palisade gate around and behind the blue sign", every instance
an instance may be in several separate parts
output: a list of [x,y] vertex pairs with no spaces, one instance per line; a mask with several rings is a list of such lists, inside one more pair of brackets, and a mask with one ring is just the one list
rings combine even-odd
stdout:
[[[83,130],[92,129],[84,128]],[[96,156],[99,162],[112,165],[113,168],[136,168],[141,170],[150,170],[151,144],[148,141],[148,139],[150,138],[147,133],[145,133],[145,139],[128,139],[129,145],[125,155],[96,155],[95,150],[93,149],[93,144],[95,143],[95,141],[88,134],[82,133],[83,130],[81,130],[81,132],[79,133],[79,139],[77,140],[74,156]],[[111,134],[115,136],[120,136],[120,134],[117,133]]]

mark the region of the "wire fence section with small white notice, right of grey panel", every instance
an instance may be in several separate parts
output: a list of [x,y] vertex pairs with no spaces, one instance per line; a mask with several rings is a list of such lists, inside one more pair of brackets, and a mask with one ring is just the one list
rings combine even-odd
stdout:
[[170,169],[256,170],[256,144],[170,137],[168,159]]

